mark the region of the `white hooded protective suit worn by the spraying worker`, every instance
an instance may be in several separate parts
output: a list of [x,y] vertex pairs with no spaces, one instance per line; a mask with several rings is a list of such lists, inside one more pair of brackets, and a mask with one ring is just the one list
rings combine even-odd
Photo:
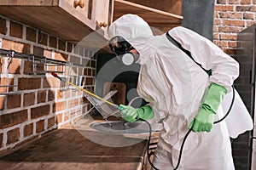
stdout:
[[[108,33],[109,37],[124,37],[140,54],[137,60],[141,65],[138,93],[149,102],[155,114],[166,114],[154,166],[161,170],[173,169],[177,165],[184,135],[201,105],[205,90],[215,82],[230,92],[239,75],[239,65],[194,31],[182,26],[169,31],[183,48],[190,51],[196,62],[207,70],[212,69],[212,76],[208,77],[195,61],[166,38],[166,34],[154,36],[148,24],[134,14],[125,14],[115,20]],[[222,116],[224,112],[220,106],[216,120]],[[178,169],[234,169],[225,121],[214,125],[210,133],[189,134]]]

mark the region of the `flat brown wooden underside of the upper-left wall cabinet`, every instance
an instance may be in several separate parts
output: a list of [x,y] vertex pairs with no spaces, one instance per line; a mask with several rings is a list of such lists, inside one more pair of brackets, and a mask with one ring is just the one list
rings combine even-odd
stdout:
[[78,42],[93,31],[89,19],[75,10],[67,11],[67,4],[62,5],[49,0],[3,1],[0,14],[70,42]]

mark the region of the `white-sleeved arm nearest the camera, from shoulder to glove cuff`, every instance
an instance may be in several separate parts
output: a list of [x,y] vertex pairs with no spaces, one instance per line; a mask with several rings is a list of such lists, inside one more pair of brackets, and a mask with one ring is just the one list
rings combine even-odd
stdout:
[[239,64],[235,59],[206,37],[182,26],[173,28],[169,34],[190,52],[198,64],[212,71],[210,82],[224,86],[228,93],[232,91],[231,86],[239,76]]

